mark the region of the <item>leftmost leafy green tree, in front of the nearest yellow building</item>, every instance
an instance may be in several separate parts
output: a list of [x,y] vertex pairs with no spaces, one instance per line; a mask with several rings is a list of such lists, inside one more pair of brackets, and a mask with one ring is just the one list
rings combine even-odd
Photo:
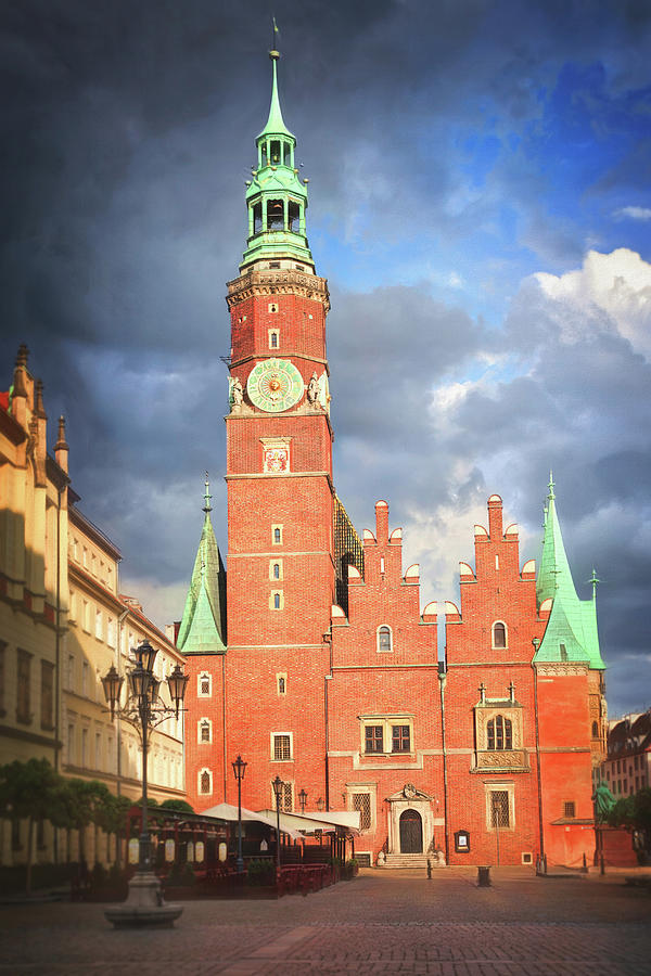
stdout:
[[31,891],[31,852],[34,824],[49,820],[54,826],[64,823],[60,802],[63,780],[47,759],[17,759],[0,767],[0,817],[27,820],[27,870],[25,890]]

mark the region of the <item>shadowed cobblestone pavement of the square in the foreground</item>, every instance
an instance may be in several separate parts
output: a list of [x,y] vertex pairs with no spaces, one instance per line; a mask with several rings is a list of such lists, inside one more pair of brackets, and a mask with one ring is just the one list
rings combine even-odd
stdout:
[[646,976],[650,921],[651,894],[622,876],[365,871],[307,898],[187,902],[163,932],[115,932],[102,906],[4,906],[0,976]]

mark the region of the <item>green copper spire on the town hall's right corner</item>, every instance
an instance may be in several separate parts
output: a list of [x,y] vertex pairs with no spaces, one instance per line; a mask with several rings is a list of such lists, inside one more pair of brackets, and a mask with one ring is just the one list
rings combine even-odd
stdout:
[[549,598],[553,603],[545,635],[534,656],[534,663],[586,662],[588,667],[601,670],[605,668],[605,665],[601,658],[597,631],[596,585],[598,580],[592,570],[590,580],[592,599],[579,600],[563,544],[553,489],[554,484],[550,475],[536,595],[538,606]]

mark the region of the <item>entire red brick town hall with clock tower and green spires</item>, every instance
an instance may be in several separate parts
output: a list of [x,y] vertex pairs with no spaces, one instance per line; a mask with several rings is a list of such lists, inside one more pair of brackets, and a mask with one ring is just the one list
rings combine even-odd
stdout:
[[419,567],[403,567],[387,503],[374,531],[350,524],[332,471],[328,285],[306,236],[278,57],[246,249],[228,284],[227,572],[206,489],[178,638],[191,671],[189,797],[200,810],[233,802],[241,754],[245,806],[273,806],[280,776],[284,809],[305,791],[308,810],[355,810],[370,863],[580,862],[595,850],[604,666],[553,484],[538,574],[521,565],[518,528],[492,496],[459,606],[441,616],[421,608]]

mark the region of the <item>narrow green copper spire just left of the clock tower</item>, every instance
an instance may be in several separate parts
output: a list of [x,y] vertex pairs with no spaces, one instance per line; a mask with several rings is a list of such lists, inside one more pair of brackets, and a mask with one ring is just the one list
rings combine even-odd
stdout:
[[226,652],[226,573],[210,523],[210,486],[206,472],[204,527],[177,639],[183,654]]

